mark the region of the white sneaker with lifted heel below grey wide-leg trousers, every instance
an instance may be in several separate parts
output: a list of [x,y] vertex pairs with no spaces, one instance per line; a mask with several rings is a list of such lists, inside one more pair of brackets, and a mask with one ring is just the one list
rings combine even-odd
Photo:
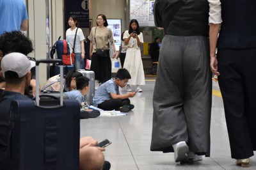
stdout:
[[180,160],[187,157],[186,153],[188,152],[188,145],[186,142],[182,141],[177,144],[173,144],[174,150],[174,159],[175,162],[180,162]]

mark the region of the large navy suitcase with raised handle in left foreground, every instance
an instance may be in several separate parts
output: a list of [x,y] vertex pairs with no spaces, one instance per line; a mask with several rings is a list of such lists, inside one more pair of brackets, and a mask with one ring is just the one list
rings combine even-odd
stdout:
[[[8,167],[10,170],[79,169],[80,105],[77,100],[40,96],[36,61],[36,101],[15,100],[11,106]],[[62,69],[61,69],[62,70]],[[63,70],[61,82],[63,82]],[[63,91],[63,86],[61,86]]]

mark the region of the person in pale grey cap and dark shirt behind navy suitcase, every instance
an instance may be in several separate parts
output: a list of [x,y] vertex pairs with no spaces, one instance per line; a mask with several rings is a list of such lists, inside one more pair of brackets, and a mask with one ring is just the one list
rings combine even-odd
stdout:
[[10,105],[12,100],[30,100],[24,96],[25,88],[31,80],[29,59],[19,52],[4,56],[1,61],[1,76],[6,81],[0,99],[0,167],[7,169],[7,139],[9,134]]

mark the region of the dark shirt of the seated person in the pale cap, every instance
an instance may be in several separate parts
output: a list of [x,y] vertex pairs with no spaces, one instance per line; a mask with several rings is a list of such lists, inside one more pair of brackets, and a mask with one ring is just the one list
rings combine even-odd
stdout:
[[7,169],[7,139],[9,134],[10,107],[12,100],[31,100],[30,98],[12,91],[3,91],[0,97],[0,167]]

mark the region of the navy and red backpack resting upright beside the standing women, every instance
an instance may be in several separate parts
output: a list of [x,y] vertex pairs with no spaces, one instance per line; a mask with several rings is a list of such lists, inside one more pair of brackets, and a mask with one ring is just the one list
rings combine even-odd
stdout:
[[57,50],[57,58],[63,61],[63,65],[73,65],[75,54],[71,45],[66,40],[60,40],[61,36],[52,46],[50,56],[53,58]]

